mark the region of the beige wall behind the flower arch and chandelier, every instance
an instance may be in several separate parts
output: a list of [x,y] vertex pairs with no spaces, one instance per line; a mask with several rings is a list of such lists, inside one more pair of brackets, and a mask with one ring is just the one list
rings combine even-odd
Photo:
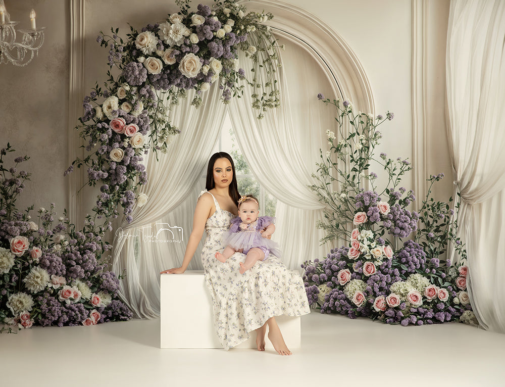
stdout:
[[[76,1],[76,0],[73,0]],[[384,124],[380,151],[394,157],[412,159],[416,147],[412,115],[413,7],[407,0],[289,0],[316,15],[340,34],[361,61],[374,93],[376,113],[394,112],[393,121]],[[203,3],[211,4],[209,0]],[[446,181],[436,195],[452,194],[450,162],[447,152],[444,116],[444,55],[449,0],[429,0],[424,17],[428,27],[424,44],[426,56],[426,170],[444,172]],[[172,4],[170,6],[170,4]],[[196,7],[198,2],[193,2]],[[32,159],[26,168],[33,173],[20,204],[47,207],[57,203],[61,211],[68,205],[67,138],[72,130],[67,125],[69,76],[69,6],[65,0],[6,0],[12,18],[28,24],[28,12],[37,11],[37,25],[46,27],[45,43],[38,58],[23,68],[0,65],[0,134]],[[173,1],[85,0],[84,96],[96,81],[106,78],[107,50],[95,39],[100,30],[120,27],[123,36],[129,31],[127,22],[140,29],[157,22],[176,10]],[[25,15],[26,14],[26,15]],[[26,16],[26,17],[25,17]],[[120,33],[121,33],[120,31]],[[74,123],[74,124],[77,124]],[[413,186],[414,179],[405,179]],[[82,212],[94,202],[90,190],[84,190]],[[86,199],[87,198],[87,199]]]

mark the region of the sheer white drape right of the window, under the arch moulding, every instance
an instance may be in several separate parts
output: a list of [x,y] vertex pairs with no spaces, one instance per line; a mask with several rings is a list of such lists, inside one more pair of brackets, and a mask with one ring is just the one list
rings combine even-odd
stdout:
[[[323,154],[328,149],[325,131],[335,120],[334,110],[316,98],[319,92],[331,93],[318,64],[299,46],[282,43],[287,49],[282,52],[285,66],[277,71],[280,107],[258,120],[244,92],[230,104],[230,117],[250,170],[278,200],[272,239],[280,244],[284,264],[299,269],[305,260],[325,257],[333,247],[320,246],[324,233],[316,224],[323,219],[323,205],[307,185],[313,184],[319,149]],[[247,59],[240,57],[241,66],[248,65]]]

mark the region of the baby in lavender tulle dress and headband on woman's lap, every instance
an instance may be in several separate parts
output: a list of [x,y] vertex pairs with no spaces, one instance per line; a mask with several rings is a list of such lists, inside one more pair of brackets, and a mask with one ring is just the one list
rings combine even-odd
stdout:
[[258,199],[254,196],[242,196],[238,200],[238,217],[232,219],[225,241],[228,246],[223,253],[217,252],[216,258],[226,262],[233,253],[246,255],[245,262],[240,262],[240,274],[249,270],[256,261],[264,261],[269,254],[280,257],[277,244],[267,239],[275,231],[275,218],[260,216]]

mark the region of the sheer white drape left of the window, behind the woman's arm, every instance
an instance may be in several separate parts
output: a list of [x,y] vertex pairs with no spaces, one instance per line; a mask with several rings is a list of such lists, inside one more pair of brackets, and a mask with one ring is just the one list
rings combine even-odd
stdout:
[[225,107],[219,100],[220,94],[221,90],[214,85],[203,95],[203,104],[198,109],[190,106],[190,95],[174,109],[172,123],[182,133],[175,137],[166,154],[158,154],[158,161],[155,155],[149,155],[148,182],[139,192],[148,196],[147,204],[136,207],[133,222],[128,224],[123,219],[116,232],[113,270],[118,274],[126,271],[126,278],[121,281],[121,296],[139,317],[159,315],[159,272],[168,268],[172,247],[185,247],[185,241],[180,244],[159,243],[156,234],[162,231],[158,237],[167,239],[171,232],[174,239],[181,234],[185,240],[189,236],[187,229],[171,229],[180,224],[164,225],[160,224],[163,223],[160,219],[184,202],[203,166],[207,166],[209,153],[223,125]]

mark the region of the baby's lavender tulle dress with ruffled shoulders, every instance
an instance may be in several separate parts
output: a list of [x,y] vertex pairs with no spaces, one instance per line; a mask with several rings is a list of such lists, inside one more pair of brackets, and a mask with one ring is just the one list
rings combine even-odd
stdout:
[[263,229],[274,222],[275,218],[260,216],[256,221],[249,224],[246,229],[242,230],[240,227],[242,219],[239,217],[233,218],[230,230],[225,236],[225,242],[235,250],[243,249],[243,254],[247,254],[254,247],[260,248],[265,253],[263,260],[267,259],[270,253],[280,258],[279,246],[273,240],[261,236]]

